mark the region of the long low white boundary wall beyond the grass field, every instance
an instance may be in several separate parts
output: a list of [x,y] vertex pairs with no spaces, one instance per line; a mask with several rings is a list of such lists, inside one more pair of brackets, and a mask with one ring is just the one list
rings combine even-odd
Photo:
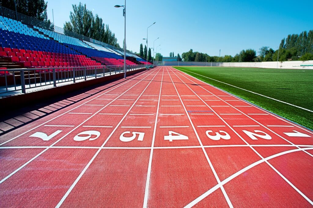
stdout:
[[223,66],[223,67],[259,67],[259,68],[284,68],[284,69],[313,69],[312,61],[269,61],[269,62],[184,62],[165,61],[165,66]]

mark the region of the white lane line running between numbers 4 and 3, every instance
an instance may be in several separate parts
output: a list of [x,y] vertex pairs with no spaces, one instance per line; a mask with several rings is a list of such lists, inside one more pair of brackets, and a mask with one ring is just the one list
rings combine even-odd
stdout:
[[[167,71],[168,72],[168,71]],[[176,74],[175,74],[176,75]],[[176,75],[177,76],[177,75]],[[178,76],[177,76],[178,77]],[[180,99],[180,101],[182,102],[182,98],[179,96],[179,93],[178,93],[178,91],[177,91],[177,89],[176,89],[176,86],[175,86],[175,84],[174,84],[174,82],[173,82],[173,79],[172,79],[172,77],[170,76],[170,78],[171,78],[171,80],[172,80],[172,83],[173,83],[173,85],[174,85],[174,88],[175,88],[175,90],[176,90],[176,92],[177,92],[177,94],[178,94],[178,97],[179,97],[179,99]],[[178,77],[179,78],[179,77]],[[180,78],[179,78],[180,79]],[[182,81],[182,79],[180,79],[181,81]],[[183,83],[185,83],[184,81],[182,81]],[[196,94],[186,83],[185,83],[185,85],[194,93],[194,94]],[[196,94],[197,95],[197,94]],[[198,95],[197,95],[198,96]],[[199,96],[198,96],[198,98],[199,99],[201,99]],[[203,101],[204,102],[204,101]],[[205,102],[204,102],[205,103]],[[207,152],[205,151],[205,149],[204,149],[204,147],[203,147],[203,144],[202,144],[202,141],[200,140],[200,137],[199,137],[199,135],[198,135],[198,132],[197,132],[197,130],[196,130],[196,128],[194,127],[194,125],[193,125],[193,123],[192,123],[192,120],[190,119],[190,116],[189,116],[189,114],[187,113],[187,109],[186,109],[186,107],[184,106],[184,104],[183,104],[183,102],[182,102],[182,106],[184,107],[184,109],[185,109],[185,111],[186,111],[186,114],[187,114],[187,116],[188,116],[188,119],[189,119],[189,121],[190,121],[190,124],[192,125],[192,129],[193,129],[193,131],[195,132],[195,134],[196,134],[196,136],[197,136],[197,139],[198,139],[198,141],[199,141],[199,144],[200,144],[200,146],[202,146],[202,151],[203,151],[203,153],[204,153],[204,155],[205,155],[205,157],[206,157],[206,159],[207,159],[207,161],[208,161],[208,164],[210,165],[210,168],[211,168],[211,170],[212,170],[212,172],[213,172],[213,174],[214,174],[214,176],[215,176],[215,179],[217,180],[217,182],[218,182],[218,184],[221,184],[221,180],[219,179],[219,177],[218,177],[218,175],[217,175],[217,173],[216,173],[216,171],[215,171],[215,169],[214,169],[214,167],[213,167],[213,165],[212,165],[212,163],[211,163],[211,160],[209,159],[209,157],[208,157],[208,154],[207,154]],[[212,109],[212,108],[211,108]],[[223,187],[223,185],[221,185],[221,190],[222,190],[222,192],[223,192],[223,195],[224,195],[224,197],[225,197],[225,199],[226,199],[226,201],[227,201],[227,203],[228,203],[228,206],[230,207],[230,208],[233,208],[233,205],[232,205],[232,203],[230,202],[230,200],[229,200],[229,198],[228,198],[228,195],[227,195],[227,193],[226,193],[226,191],[225,191],[225,189],[224,189],[224,187]]]

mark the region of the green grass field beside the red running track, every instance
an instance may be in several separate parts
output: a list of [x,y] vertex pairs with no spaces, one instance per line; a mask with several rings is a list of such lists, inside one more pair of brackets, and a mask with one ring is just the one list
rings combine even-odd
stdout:
[[[309,129],[313,129],[313,112],[308,111],[313,111],[313,70],[234,67],[174,68]],[[281,103],[243,89],[308,110]]]

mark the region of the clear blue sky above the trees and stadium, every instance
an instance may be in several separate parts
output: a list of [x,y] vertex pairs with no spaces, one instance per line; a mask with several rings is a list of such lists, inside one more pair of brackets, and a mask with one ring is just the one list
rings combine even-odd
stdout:
[[[47,0],[48,18],[62,27],[69,21],[72,4],[78,0]],[[124,0],[81,0],[87,8],[97,13],[115,33],[122,46],[124,39]],[[160,53],[181,54],[189,49],[211,56],[235,55],[242,49],[262,46],[277,48],[288,34],[313,29],[312,0],[303,1],[251,1],[251,0],[127,0],[126,44],[127,49],[139,52],[140,43],[145,43],[146,28],[149,28],[149,47],[161,46]],[[148,10],[148,13],[146,12]],[[158,49],[159,49],[158,48]]]

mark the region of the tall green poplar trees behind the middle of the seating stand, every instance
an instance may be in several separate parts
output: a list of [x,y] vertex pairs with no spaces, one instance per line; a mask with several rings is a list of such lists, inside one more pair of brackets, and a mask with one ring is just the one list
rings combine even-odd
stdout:
[[[87,37],[99,40],[110,45],[120,47],[117,43],[115,34],[109,28],[109,25],[103,23],[102,18],[86,8],[86,4],[72,5],[73,12],[69,14],[69,22],[64,23],[64,30],[85,35]],[[124,47],[124,46],[123,46]]]

